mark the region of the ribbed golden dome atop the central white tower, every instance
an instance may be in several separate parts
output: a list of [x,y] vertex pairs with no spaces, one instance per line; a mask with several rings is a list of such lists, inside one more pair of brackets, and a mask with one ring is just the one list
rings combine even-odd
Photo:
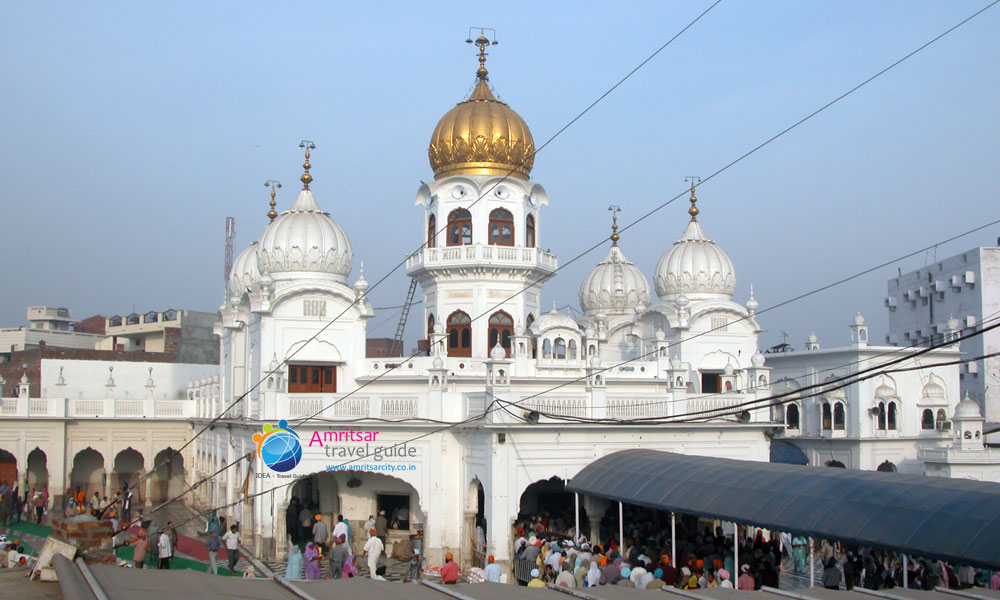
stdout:
[[521,115],[493,96],[486,69],[469,98],[449,110],[431,136],[427,155],[434,178],[510,175],[528,179],[535,141]]

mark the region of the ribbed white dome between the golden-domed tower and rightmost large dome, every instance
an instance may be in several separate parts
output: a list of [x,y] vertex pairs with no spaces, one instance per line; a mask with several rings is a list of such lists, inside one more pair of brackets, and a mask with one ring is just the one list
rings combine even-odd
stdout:
[[617,244],[580,284],[580,308],[587,314],[627,313],[649,304],[649,282]]

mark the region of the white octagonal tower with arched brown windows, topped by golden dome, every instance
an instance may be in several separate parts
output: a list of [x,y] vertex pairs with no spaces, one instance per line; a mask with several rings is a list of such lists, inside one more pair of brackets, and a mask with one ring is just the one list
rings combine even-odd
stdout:
[[[510,355],[515,328],[539,316],[542,282],[557,267],[541,249],[545,189],[530,181],[535,142],[527,123],[489,85],[482,33],[475,87],[438,121],[427,154],[434,180],[420,186],[423,247],[406,272],[424,292],[424,327],[444,327],[447,355]],[[495,43],[495,42],[493,42]]]

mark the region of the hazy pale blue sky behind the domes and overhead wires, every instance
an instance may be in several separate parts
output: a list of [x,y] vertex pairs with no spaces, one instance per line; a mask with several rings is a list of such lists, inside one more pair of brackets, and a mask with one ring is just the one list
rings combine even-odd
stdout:
[[[312,188],[371,282],[422,241],[413,206],[437,120],[473,83],[470,25],[495,27],[491,83],[537,144],[709,5],[699,2],[9,2],[0,19],[0,325],[215,311],[226,216],[238,253],[267,223],[267,179]],[[565,262],[969,14],[975,2],[725,0],[538,154],[540,245]],[[1000,218],[1000,7],[699,191],[700,221],[761,307]],[[623,236],[652,280],[676,202]],[[993,245],[1000,227],[941,246]],[[604,249],[545,287],[578,306]],[[932,256],[898,265],[923,266]],[[896,266],[761,317],[761,346],[842,345],[854,311],[881,340]],[[400,304],[397,271],[371,298]],[[407,332],[418,334],[419,307]],[[371,337],[391,336],[380,311]]]

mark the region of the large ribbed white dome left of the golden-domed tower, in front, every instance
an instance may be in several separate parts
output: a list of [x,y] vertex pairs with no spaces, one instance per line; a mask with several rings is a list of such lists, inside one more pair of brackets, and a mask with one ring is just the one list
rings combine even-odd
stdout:
[[343,228],[323,211],[312,192],[299,192],[295,204],[264,230],[257,252],[261,273],[329,273],[347,283],[354,253]]

